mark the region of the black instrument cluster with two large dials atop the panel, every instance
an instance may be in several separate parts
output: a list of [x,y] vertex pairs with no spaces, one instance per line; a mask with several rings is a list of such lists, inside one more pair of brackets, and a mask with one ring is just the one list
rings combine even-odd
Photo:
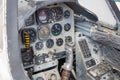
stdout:
[[37,22],[39,24],[51,23],[53,21],[60,21],[63,18],[62,7],[52,7],[39,9],[36,12]]

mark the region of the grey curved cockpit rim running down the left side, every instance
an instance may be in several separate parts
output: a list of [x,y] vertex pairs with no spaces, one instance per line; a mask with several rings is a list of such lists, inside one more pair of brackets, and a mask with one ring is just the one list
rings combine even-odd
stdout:
[[7,44],[11,73],[14,80],[29,80],[22,69],[21,57],[18,44],[17,30],[17,2],[18,0],[7,0]]

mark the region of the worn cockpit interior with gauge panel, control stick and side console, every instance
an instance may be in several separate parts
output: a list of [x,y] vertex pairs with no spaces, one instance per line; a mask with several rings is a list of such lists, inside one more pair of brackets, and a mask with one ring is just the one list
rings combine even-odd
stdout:
[[18,0],[18,65],[25,78],[13,80],[120,80],[120,22],[109,9],[116,25],[77,0]]

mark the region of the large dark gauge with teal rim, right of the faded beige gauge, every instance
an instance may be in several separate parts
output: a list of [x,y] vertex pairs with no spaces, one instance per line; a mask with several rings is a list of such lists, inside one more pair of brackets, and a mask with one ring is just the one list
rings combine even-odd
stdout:
[[61,24],[57,23],[57,24],[54,24],[52,29],[51,29],[51,32],[54,36],[58,36],[60,35],[60,33],[62,32],[62,26]]

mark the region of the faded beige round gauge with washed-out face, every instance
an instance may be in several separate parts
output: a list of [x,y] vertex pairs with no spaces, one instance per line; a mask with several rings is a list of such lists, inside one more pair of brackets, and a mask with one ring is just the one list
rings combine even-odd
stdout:
[[38,31],[39,39],[48,39],[50,36],[50,29],[48,26],[41,26]]

